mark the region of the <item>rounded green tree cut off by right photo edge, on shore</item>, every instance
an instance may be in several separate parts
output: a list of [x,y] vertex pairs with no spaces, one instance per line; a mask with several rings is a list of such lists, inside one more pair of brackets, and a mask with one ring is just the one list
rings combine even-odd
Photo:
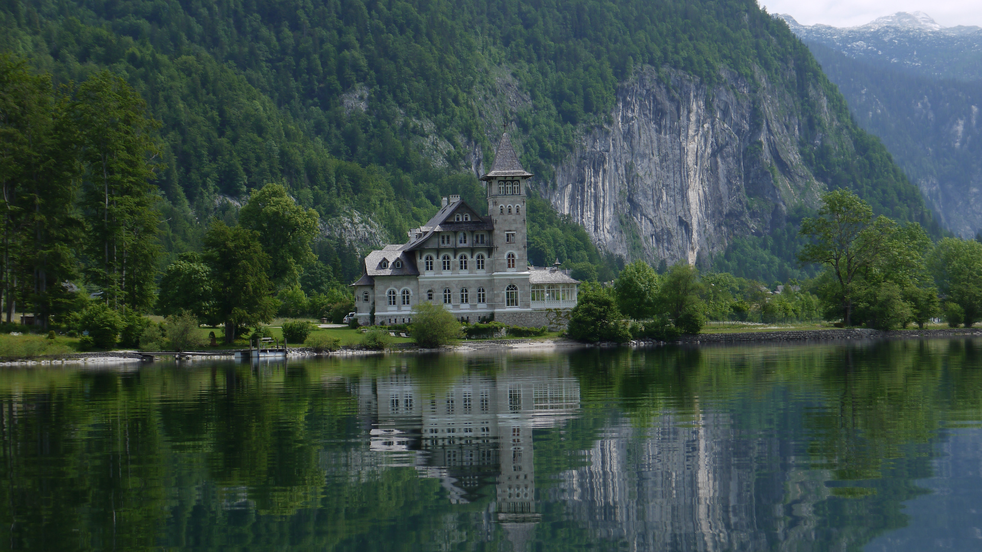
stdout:
[[930,265],[938,290],[960,309],[959,321],[966,328],[977,322],[982,316],[982,244],[945,238],[932,251]]

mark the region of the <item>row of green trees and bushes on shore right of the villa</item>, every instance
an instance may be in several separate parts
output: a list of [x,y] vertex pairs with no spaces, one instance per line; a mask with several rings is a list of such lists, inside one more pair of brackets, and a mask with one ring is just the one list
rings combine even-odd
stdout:
[[[916,222],[880,215],[848,190],[823,195],[804,217],[799,265],[817,276],[785,285],[700,274],[684,261],[660,273],[628,264],[612,285],[584,284],[569,333],[584,341],[671,339],[699,333],[707,320],[795,322],[825,319],[880,330],[944,317],[952,327],[982,320],[982,243],[932,242]],[[773,289],[772,289],[773,288]]]

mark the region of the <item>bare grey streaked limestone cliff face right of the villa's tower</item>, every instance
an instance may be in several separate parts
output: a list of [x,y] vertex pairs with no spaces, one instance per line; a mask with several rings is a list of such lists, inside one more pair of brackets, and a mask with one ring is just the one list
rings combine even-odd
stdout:
[[825,187],[798,153],[790,94],[755,80],[725,75],[710,88],[640,71],[539,193],[627,259],[706,262],[736,236],[767,233]]

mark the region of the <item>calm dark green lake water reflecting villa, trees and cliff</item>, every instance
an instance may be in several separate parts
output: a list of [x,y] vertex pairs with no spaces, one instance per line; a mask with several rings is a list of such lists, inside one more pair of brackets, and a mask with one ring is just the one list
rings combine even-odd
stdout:
[[0,371],[2,550],[978,550],[982,341]]

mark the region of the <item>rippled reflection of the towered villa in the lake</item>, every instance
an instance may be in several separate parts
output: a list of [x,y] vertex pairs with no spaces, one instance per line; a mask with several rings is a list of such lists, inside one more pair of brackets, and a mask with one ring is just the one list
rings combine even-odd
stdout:
[[443,386],[398,372],[362,378],[352,391],[369,448],[387,466],[439,479],[453,503],[481,498],[494,481],[488,514],[524,549],[541,520],[532,431],[564,423],[579,408],[579,384],[565,366],[471,373]]

